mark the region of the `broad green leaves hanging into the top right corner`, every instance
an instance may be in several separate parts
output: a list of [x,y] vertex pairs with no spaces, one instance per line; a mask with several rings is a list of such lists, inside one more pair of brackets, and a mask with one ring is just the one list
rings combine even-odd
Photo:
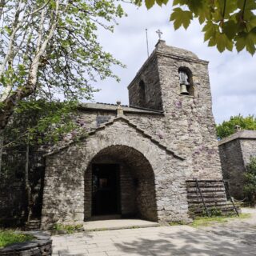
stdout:
[[[140,6],[143,0],[134,0]],[[155,4],[166,5],[169,0],[145,0],[147,9]],[[217,46],[222,52],[246,48],[255,53],[256,2],[255,0],[174,0],[170,21],[174,29],[190,26],[194,18],[203,26],[202,32],[208,46]]]

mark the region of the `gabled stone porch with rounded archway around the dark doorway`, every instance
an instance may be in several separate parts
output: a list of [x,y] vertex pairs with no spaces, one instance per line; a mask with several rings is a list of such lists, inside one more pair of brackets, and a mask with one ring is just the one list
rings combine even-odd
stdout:
[[123,203],[121,214],[158,222],[188,218],[186,162],[130,121],[118,118],[46,156],[42,226],[77,225],[91,218],[90,166],[100,159],[121,162],[137,186],[130,199],[134,210]]

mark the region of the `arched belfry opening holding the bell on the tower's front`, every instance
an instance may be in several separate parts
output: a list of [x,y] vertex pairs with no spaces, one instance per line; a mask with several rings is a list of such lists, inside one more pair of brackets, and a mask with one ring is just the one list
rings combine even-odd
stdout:
[[194,96],[194,85],[192,81],[192,73],[186,67],[178,69],[180,94]]

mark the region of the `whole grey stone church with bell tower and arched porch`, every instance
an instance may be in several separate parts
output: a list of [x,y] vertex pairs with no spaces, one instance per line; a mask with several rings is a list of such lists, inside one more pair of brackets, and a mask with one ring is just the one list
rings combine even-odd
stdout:
[[112,215],[186,222],[186,183],[222,181],[208,62],[159,40],[128,92],[129,106],[82,104],[86,136],[46,154],[42,228]]

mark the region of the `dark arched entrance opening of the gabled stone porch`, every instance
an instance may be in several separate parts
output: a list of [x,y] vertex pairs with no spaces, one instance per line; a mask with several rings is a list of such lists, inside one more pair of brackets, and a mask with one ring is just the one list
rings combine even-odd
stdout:
[[158,221],[154,171],[129,146],[106,147],[86,170],[85,219],[111,214]]

